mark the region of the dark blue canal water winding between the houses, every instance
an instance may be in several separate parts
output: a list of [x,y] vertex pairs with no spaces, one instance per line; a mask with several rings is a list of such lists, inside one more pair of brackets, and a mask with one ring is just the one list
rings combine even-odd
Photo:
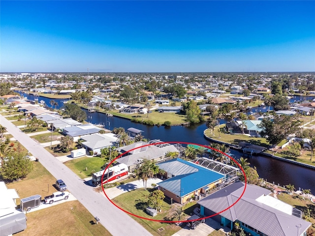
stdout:
[[[24,95],[24,94],[23,94]],[[63,106],[64,99],[50,99],[45,97],[35,97],[30,94],[25,94],[28,99],[34,100],[44,100],[48,106],[50,106],[50,100],[55,100],[58,102],[58,107]],[[293,97],[293,100],[300,98],[300,96]],[[302,96],[302,99],[304,97]],[[309,99],[311,99],[309,97]],[[267,107],[258,107],[254,109],[262,109],[262,111],[268,111]],[[114,127],[124,127],[125,130],[133,127],[136,129],[143,130],[143,136],[147,139],[159,139],[163,142],[190,142],[200,145],[209,145],[210,142],[204,138],[203,131],[207,128],[206,123],[198,125],[190,125],[189,127],[182,126],[149,126],[143,125],[141,123],[131,122],[125,118],[118,117],[107,117],[103,113],[89,113],[86,109],[83,109],[87,113],[87,121],[93,124],[103,124],[107,129],[113,129]],[[255,111],[253,111],[255,112]],[[149,114],[150,117],[150,114]],[[222,120],[222,122],[224,122]],[[222,123],[220,122],[220,123]],[[243,155],[242,152],[231,150],[231,156],[235,159],[239,159]],[[287,162],[283,162],[277,159],[272,159],[270,157],[264,156],[252,156],[247,157],[251,166],[257,168],[259,177],[267,179],[269,182],[274,182],[275,184],[286,185],[293,184],[298,190],[301,189],[311,189],[313,194],[315,193],[315,171],[304,168],[301,166],[296,166]]]

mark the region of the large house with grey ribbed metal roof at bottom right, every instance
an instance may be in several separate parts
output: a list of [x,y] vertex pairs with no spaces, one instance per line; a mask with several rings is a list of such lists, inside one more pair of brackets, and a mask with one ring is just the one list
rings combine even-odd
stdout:
[[301,219],[300,210],[270,196],[268,189],[252,184],[244,188],[244,182],[235,182],[199,200],[200,214],[230,229],[237,222],[252,236],[306,235],[311,223]]

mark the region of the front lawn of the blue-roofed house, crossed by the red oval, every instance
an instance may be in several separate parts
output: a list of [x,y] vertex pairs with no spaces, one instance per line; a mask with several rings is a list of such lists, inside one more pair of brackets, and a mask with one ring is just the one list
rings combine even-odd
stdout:
[[[149,189],[149,191],[151,190]],[[175,204],[173,204],[173,208],[171,208],[170,204],[163,202],[162,211],[159,212],[158,215],[156,215],[155,217],[150,216],[145,212],[144,203],[147,201],[147,196],[150,194],[149,191],[145,191],[144,189],[133,190],[116,197],[115,199],[113,199],[113,201],[115,202],[115,204],[126,209],[127,211],[142,217],[151,218],[155,220],[169,220],[169,218],[172,218],[172,210],[175,209],[176,207]],[[194,207],[196,206],[193,205],[192,203],[191,205],[183,207],[184,212],[186,213],[185,216],[183,217],[183,220],[189,218],[190,215],[189,212]],[[170,236],[181,229],[181,227],[176,226],[175,224],[160,223],[156,221],[140,219],[138,217],[133,216],[131,217],[134,218],[139,224],[141,224],[146,230],[148,230],[154,236]],[[164,228],[164,230],[159,232],[158,231],[159,228]]]

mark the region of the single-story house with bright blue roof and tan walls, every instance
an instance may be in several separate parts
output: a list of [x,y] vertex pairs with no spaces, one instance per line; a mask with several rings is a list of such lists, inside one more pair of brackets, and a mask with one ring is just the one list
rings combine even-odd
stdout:
[[158,183],[158,189],[175,202],[183,204],[190,198],[199,198],[206,189],[224,181],[225,176],[180,158],[157,164],[164,170],[166,179]]

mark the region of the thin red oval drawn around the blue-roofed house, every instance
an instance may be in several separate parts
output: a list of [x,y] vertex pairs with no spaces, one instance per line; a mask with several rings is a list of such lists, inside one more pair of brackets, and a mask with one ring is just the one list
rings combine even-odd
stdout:
[[[112,160],[108,165],[107,167],[105,168],[104,172],[103,172],[103,175],[102,175],[102,178],[101,178],[101,182],[103,182],[103,177],[104,177],[104,174],[105,174],[105,171],[107,170],[107,168],[118,158],[120,158],[121,156],[123,156],[124,154],[126,154],[127,152],[129,151],[133,151],[133,150],[136,150],[138,148],[143,148],[143,147],[147,147],[147,146],[151,146],[151,145],[158,145],[158,144],[191,144],[191,145],[196,145],[196,146],[200,146],[200,147],[204,147],[204,148],[210,148],[210,149],[213,149],[213,150],[216,150],[216,151],[219,151],[220,153],[224,154],[225,156],[227,156],[228,158],[230,158],[231,160],[233,160],[237,165],[238,167],[241,169],[241,171],[243,172],[244,174],[244,177],[245,177],[245,186],[244,186],[244,190],[241,194],[241,196],[235,201],[235,203],[233,203],[231,206],[227,207],[226,209],[223,209],[221,210],[220,212],[216,213],[216,214],[213,214],[213,215],[210,215],[210,216],[206,216],[206,217],[203,217],[203,218],[200,218],[200,219],[207,219],[207,218],[211,218],[213,216],[216,216],[216,215],[219,215],[220,213],[228,210],[229,208],[233,207],[238,201],[241,200],[241,198],[243,197],[244,193],[245,193],[245,190],[246,190],[246,186],[247,186],[247,178],[246,178],[246,174],[244,172],[244,169],[240,166],[240,164],[234,159],[232,158],[231,156],[227,155],[226,153],[216,149],[216,148],[211,148],[209,146],[206,146],[206,145],[201,145],[201,144],[194,144],[194,143],[189,143],[189,142],[160,142],[160,143],[154,143],[154,144],[147,144],[147,145],[143,145],[143,146],[140,146],[140,147],[137,147],[137,148],[133,148],[133,149],[130,149],[126,152],[124,152],[123,154],[117,156],[114,160]],[[109,199],[109,197],[107,196],[107,194],[105,193],[105,189],[104,189],[104,186],[103,184],[101,184],[102,186],[102,189],[103,189],[103,193],[105,194],[106,198],[117,208],[119,208],[120,210],[126,212],[127,214],[129,215],[132,215],[132,216],[135,216],[137,218],[141,218],[141,219],[144,219],[144,220],[151,220],[151,221],[156,221],[156,222],[161,222],[161,223],[184,223],[184,222],[192,222],[193,220],[184,220],[184,221],[167,221],[167,220],[155,220],[155,219],[150,219],[150,218],[146,218],[146,217],[143,217],[143,216],[140,216],[140,215],[136,215],[136,214],[133,214],[119,206],[117,206],[115,203],[113,203],[113,201],[111,201],[111,199]]]

